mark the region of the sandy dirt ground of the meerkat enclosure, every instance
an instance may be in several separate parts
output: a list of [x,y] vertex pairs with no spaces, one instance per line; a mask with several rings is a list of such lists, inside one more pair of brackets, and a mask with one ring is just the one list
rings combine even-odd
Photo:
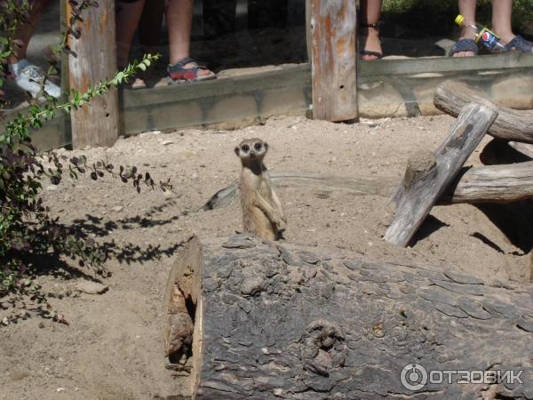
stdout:
[[[173,193],[143,188],[138,195],[109,177],[98,183],[84,177],[76,186],[65,180],[44,188],[45,200],[60,220],[75,223],[120,257],[107,260],[111,276],[106,279],[77,269],[73,260],[64,260],[66,272],[59,271],[57,277],[37,278],[69,324],[32,313],[0,325],[0,398],[187,395],[185,379],[165,368],[163,289],[182,241],[192,234],[228,236],[240,228],[237,202],[214,211],[199,209],[237,179],[240,166],[234,148],[243,138],[267,140],[266,163],[273,171],[322,172],[375,183],[363,195],[311,186],[278,188],[289,219],[288,241],[370,260],[453,268],[502,282],[529,281],[530,239],[517,226],[509,226],[516,207],[438,206],[410,248],[382,239],[390,182],[401,179],[414,151],[437,148],[453,121],[434,116],[330,124],[290,116],[232,132],[147,132],[121,139],[113,148],[84,151],[91,162],[107,158],[115,165],[136,164],[156,180],[170,178]],[[467,164],[480,164],[481,148]],[[84,274],[109,290],[99,295],[76,292]],[[0,311],[0,321],[12,312]]]

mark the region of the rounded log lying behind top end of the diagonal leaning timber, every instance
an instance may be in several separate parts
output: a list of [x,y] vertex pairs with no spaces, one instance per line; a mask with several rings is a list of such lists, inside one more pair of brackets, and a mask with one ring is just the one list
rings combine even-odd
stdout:
[[435,107],[451,116],[457,116],[466,104],[472,102],[497,110],[497,119],[489,129],[490,135],[505,140],[533,143],[533,111],[503,107],[487,100],[468,85],[456,81],[439,85],[434,95]]

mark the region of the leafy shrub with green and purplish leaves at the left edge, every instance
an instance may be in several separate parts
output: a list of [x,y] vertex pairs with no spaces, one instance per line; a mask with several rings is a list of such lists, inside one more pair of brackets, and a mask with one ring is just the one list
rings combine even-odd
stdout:
[[[13,39],[16,26],[27,20],[29,9],[28,2],[24,2],[24,7],[15,0],[0,4],[0,32],[4,32],[0,34],[4,35],[0,36],[0,63],[4,67],[17,45]],[[84,9],[97,5],[92,1],[70,1],[70,4],[71,26],[75,26],[75,21],[82,20]],[[68,35],[77,38],[81,34],[73,29],[66,30],[63,47],[68,43]],[[68,48],[66,50],[73,54]],[[9,293],[29,294],[32,300],[46,304],[39,286],[29,279],[31,272],[42,267],[38,259],[44,254],[52,253],[56,257],[67,255],[77,259],[80,266],[105,273],[103,263],[107,252],[101,251],[91,238],[85,238],[74,228],[61,225],[57,218],[52,219],[50,209],[41,197],[43,182],[49,180],[53,185],[59,185],[64,173],[73,179],[89,174],[92,180],[99,180],[107,174],[124,183],[130,182],[140,192],[142,185],[155,188],[155,181],[149,173],[141,173],[135,166],[120,165],[116,169],[104,160],[88,164],[85,156],[68,159],[53,151],[40,153],[31,143],[29,129],[40,128],[58,112],[69,114],[73,109],[83,107],[95,97],[123,84],[140,70],[146,70],[155,60],[157,56],[147,54],[139,62],[117,72],[107,82],[89,87],[83,93],[72,90],[70,98],[62,103],[50,97],[44,105],[32,102],[27,113],[19,114],[5,124],[4,132],[0,135],[0,299]],[[0,88],[4,83],[2,77]],[[168,180],[159,182],[157,186],[163,190],[171,188]],[[46,313],[50,316],[49,311]]]

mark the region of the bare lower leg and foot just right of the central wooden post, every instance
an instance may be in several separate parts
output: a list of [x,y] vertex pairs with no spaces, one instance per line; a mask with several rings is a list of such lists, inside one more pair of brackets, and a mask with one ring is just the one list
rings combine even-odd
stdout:
[[[360,34],[363,36],[362,49],[366,52],[382,54],[381,40],[379,39],[378,23],[381,17],[381,0],[361,1],[361,27]],[[374,27],[372,27],[374,25]],[[362,54],[362,60],[377,60],[378,55]]]

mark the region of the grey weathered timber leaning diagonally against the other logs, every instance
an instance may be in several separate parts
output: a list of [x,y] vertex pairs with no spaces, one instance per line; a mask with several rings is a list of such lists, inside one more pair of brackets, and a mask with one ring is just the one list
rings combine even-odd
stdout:
[[434,154],[410,159],[402,185],[394,196],[398,204],[385,240],[406,246],[427,214],[480,143],[497,112],[481,104],[469,104]]

